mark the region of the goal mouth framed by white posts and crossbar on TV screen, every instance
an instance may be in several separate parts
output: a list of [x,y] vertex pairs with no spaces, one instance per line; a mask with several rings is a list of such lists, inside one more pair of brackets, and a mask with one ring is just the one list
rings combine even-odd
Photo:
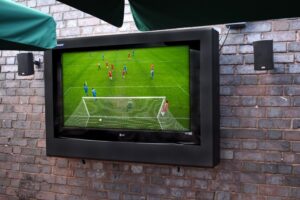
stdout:
[[[131,97],[82,97],[84,109],[91,123],[105,120],[105,123],[125,126],[156,126],[163,129],[160,113],[165,96]],[[98,122],[98,124],[99,124]],[[128,124],[130,123],[130,124]]]

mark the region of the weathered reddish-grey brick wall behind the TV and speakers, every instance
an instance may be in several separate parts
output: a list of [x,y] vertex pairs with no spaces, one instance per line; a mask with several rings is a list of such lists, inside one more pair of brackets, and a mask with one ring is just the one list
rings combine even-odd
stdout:
[[[54,0],[18,0],[54,16],[59,38],[135,32]],[[215,27],[221,43],[227,32]],[[253,70],[252,42],[274,40],[275,70]],[[16,73],[0,51],[0,199],[300,199],[300,19],[232,30],[220,55],[221,163],[214,169],[46,157],[43,67]],[[35,54],[42,57],[42,52]]]

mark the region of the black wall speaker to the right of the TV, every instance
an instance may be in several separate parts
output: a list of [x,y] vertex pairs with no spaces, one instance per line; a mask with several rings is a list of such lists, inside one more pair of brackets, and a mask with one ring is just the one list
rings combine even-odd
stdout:
[[274,69],[273,40],[253,42],[254,70]]

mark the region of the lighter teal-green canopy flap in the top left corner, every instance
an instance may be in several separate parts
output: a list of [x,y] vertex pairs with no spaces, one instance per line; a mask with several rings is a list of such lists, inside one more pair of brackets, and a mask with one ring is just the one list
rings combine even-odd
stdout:
[[52,17],[10,0],[0,0],[0,50],[44,50],[56,46]]

